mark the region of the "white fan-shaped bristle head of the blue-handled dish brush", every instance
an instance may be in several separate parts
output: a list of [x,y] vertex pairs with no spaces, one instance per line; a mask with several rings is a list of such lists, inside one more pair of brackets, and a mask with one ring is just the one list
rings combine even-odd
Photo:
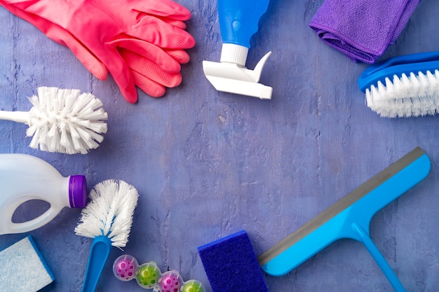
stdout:
[[90,191],[90,202],[81,212],[76,235],[95,238],[101,235],[112,246],[126,246],[137,206],[137,190],[125,181],[102,181]]

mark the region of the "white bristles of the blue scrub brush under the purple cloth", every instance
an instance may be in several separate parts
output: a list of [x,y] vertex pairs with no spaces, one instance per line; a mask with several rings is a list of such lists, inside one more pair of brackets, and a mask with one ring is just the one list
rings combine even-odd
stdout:
[[[384,85],[384,83],[386,83]],[[433,116],[439,113],[439,70],[385,78],[365,90],[367,106],[386,118]]]

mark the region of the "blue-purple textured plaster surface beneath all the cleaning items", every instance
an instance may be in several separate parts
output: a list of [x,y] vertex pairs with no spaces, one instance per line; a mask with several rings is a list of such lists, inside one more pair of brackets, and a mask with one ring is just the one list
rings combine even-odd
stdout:
[[[0,153],[29,153],[64,176],[84,174],[89,188],[122,179],[140,193],[128,245],[112,249],[97,291],[143,291],[113,276],[123,253],[211,291],[197,246],[245,229],[260,254],[416,146],[431,158],[431,173],[374,216],[371,237],[407,291],[438,291],[438,117],[380,118],[365,106],[357,80],[368,65],[309,28],[323,0],[271,0],[247,63],[253,69],[273,51],[261,78],[273,87],[271,100],[217,92],[201,66],[219,61],[216,1],[179,3],[192,13],[187,30],[197,41],[184,81],[161,99],[139,91],[137,104],[125,102],[112,78],[98,81],[67,48],[0,9],[1,110],[29,110],[36,88],[56,86],[93,92],[109,113],[109,131],[88,155],[33,150],[27,126],[6,121]],[[438,1],[421,1],[383,58],[439,50],[438,15]],[[92,239],[74,234],[79,214],[63,209],[28,233],[55,275],[45,292],[81,291]],[[22,237],[1,235],[0,249]],[[271,292],[393,291],[365,247],[349,240],[264,279]]]

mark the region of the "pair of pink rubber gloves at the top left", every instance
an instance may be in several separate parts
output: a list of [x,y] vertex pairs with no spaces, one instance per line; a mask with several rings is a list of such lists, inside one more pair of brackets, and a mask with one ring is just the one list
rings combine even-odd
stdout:
[[108,72],[130,103],[180,85],[191,13],[172,0],[0,0],[0,5],[67,46],[100,80]]

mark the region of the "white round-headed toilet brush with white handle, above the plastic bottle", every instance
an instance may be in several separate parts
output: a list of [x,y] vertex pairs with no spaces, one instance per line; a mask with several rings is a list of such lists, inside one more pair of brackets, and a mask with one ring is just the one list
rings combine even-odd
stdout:
[[60,88],[38,88],[29,98],[33,107],[26,111],[0,111],[0,120],[29,125],[29,146],[41,151],[86,154],[103,141],[108,115],[102,102],[91,93]]

